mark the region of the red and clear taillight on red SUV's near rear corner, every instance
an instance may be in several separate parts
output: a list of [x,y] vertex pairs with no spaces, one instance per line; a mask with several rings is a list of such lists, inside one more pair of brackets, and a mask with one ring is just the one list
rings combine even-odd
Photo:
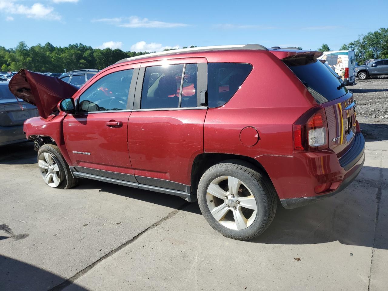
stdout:
[[293,124],[294,151],[316,151],[327,148],[325,109],[317,106],[308,110]]

